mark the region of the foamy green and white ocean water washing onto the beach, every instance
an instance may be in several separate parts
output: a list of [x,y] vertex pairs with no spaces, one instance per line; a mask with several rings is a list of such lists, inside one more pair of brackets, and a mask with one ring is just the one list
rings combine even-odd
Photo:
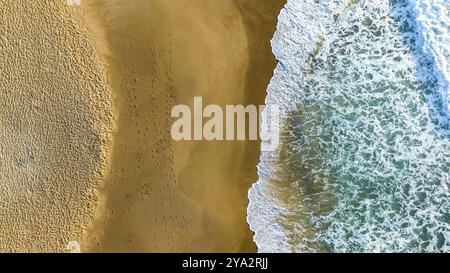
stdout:
[[450,251],[450,0],[289,0],[247,220],[261,252]]

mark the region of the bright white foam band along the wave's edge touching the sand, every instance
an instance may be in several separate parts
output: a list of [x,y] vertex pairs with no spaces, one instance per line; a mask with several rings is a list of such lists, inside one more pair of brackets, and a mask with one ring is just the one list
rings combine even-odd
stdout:
[[[266,97],[266,105],[280,107],[281,120],[285,118],[283,113],[292,111],[301,98],[295,90],[300,88],[299,78],[307,68],[309,53],[332,29],[335,16],[341,14],[350,2],[288,0],[281,10],[272,39],[272,50],[279,63]],[[284,208],[277,206],[275,200],[270,201],[276,189],[267,181],[276,179],[273,177],[276,166],[271,163],[275,155],[276,152],[261,153],[260,180],[249,191],[247,222],[255,232],[254,240],[260,252],[287,252],[290,249],[282,224],[276,222]]]

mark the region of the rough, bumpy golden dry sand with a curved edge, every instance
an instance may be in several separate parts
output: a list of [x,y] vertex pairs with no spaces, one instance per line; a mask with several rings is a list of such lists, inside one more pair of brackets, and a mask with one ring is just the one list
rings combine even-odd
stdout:
[[80,11],[0,0],[0,252],[63,252],[94,216],[111,100]]

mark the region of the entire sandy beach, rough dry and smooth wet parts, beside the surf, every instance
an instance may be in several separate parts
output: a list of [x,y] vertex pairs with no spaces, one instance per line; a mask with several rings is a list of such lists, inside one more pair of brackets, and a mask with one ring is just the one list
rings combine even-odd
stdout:
[[170,113],[263,104],[284,3],[0,0],[0,251],[256,251],[259,143],[172,141]]

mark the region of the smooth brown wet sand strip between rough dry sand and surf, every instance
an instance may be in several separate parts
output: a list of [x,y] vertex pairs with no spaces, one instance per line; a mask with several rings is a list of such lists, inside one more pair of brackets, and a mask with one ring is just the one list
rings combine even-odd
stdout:
[[263,104],[282,0],[84,0],[112,92],[111,160],[84,251],[252,252],[258,142],[173,142],[176,104]]

